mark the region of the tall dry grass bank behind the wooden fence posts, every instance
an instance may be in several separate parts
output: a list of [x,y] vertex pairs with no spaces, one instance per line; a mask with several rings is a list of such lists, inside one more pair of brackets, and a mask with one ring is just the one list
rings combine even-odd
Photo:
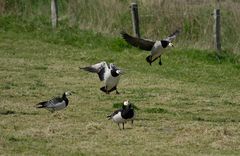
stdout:
[[[60,26],[117,35],[132,32],[130,0],[58,0]],[[213,9],[215,0],[139,0],[140,31],[143,37],[163,38],[176,28],[182,29],[177,40],[182,48],[213,48]],[[221,31],[224,50],[239,54],[239,6],[237,0],[221,1]],[[113,9],[114,8],[114,9]],[[0,14],[18,18],[32,27],[50,24],[50,1],[5,1]]]

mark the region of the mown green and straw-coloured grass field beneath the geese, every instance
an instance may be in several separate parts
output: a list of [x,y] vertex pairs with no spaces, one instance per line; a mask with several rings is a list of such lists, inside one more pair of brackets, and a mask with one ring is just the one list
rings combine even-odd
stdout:
[[[176,48],[149,66],[119,36],[70,32],[1,29],[0,155],[240,154],[239,57]],[[126,71],[120,95],[79,70],[102,60]],[[67,90],[67,109],[34,107]],[[139,109],[120,131],[106,115],[126,99]]]

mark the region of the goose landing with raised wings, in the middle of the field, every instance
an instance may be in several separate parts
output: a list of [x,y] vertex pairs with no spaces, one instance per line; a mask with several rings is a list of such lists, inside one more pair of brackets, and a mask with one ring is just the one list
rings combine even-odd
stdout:
[[117,85],[119,83],[120,76],[123,74],[123,71],[116,65],[112,63],[108,64],[107,62],[103,61],[80,69],[98,74],[100,81],[104,81],[104,86],[100,88],[101,91],[109,94],[110,92],[116,90],[116,94],[119,94]]

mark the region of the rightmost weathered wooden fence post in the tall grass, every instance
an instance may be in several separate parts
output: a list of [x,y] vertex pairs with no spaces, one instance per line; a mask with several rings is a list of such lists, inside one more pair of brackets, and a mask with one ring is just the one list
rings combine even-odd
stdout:
[[214,9],[214,47],[217,54],[221,52],[221,23],[220,23],[220,8]]

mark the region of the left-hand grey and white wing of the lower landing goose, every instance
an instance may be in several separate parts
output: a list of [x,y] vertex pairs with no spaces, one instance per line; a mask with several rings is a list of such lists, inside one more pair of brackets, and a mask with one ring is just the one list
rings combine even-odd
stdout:
[[92,72],[92,73],[97,73],[98,76],[99,76],[99,79],[101,81],[103,81],[106,68],[108,68],[107,63],[105,61],[103,61],[103,62],[94,64],[94,65],[91,65],[91,66],[88,66],[88,67],[83,67],[83,68],[80,68],[80,69],[83,69],[85,71]]

